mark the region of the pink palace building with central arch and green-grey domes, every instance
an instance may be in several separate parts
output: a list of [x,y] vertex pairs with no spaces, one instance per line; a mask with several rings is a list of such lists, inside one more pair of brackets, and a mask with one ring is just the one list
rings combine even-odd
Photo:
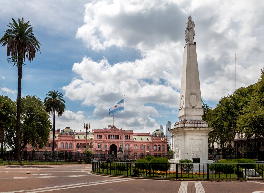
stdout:
[[[118,129],[109,125],[104,129],[92,129],[92,132],[76,132],[70,127],[55,131],[55,151],[84,152],[86,145],[94,154],[117,154],[119,147],[123,146],[125,136],[125,155],[167,155],[167,137],[156,129],[150,133],[134,133],[133,130]],[[46,146],[38,151],[52,151],[53,132],[50,132]],[[87,138],[86,138],[87,137]],[[87,141],[87,144],[86,144]],[[30,145],[27,151],[32,151]]]

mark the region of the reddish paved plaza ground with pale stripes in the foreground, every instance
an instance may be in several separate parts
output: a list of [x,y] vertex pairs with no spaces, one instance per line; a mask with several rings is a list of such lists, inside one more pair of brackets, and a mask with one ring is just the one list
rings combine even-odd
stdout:
[[37,192],[173,192],[264,193],[264,181],[176,181],[100,176],[91,165],[0,167],[0,193]]

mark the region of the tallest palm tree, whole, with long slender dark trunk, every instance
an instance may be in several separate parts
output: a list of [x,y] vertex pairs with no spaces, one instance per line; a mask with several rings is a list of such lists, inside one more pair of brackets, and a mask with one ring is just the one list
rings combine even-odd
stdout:
[[[18,23],[12,18],[13,23],[7,25],[7,29],[0,39],[2,46],[7,45],[7,56],[12,57],[12,63],[18,69],[17,87],[17,117],[16,117],[16,137],[14,159],[21,163],[20,155],[20,110],[21,110],[21,80],[23,62],[28,59],[30,62],[35,58],[36,52],[40,53],[40,42],[34,36],[34,29],[29,25],[29,21],[24,23],[24,18],[18,19]],[[24,64],[25,65],[25,64]]]

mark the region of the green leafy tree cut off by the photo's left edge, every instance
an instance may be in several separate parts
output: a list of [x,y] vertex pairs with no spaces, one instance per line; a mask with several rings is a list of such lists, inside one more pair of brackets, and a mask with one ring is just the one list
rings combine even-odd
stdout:
[[0,143],[1,157],[3,156],[4,130],[15,127],[16,104],[8,96],[0,95]]

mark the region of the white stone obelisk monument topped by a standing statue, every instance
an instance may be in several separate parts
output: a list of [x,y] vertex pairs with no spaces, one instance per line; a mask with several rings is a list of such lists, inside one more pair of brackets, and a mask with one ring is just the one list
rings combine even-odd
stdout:
[[204,113],[201,100],[199,71],[194,42],[194,22],[188,17],[183,52],[179,121],[169,130],[174,136],[174,162],[190,159],[194,162],[208,161],[208,133],[213,128],[202,120]]

